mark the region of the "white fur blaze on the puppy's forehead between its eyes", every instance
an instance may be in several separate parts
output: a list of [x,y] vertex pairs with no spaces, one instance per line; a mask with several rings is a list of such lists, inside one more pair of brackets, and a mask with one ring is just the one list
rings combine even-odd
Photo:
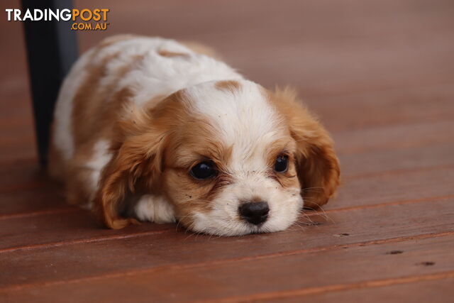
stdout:
[[286,128],[282,127],[282,118],[258,84],[247,80],[239,84],[238,92],[231,92],[217,89],[216,82],[205,82],[189,87],[187,94],[196,113],[214,125],[222,143],[233,146],[231,158],[236,161],[231,165],[239,166],[232,167],[232,170],[241,170],[246,159],[249,160],[249,170],[261,170],[265,167],[265,158],[262,157],[265,149],[280,138]]

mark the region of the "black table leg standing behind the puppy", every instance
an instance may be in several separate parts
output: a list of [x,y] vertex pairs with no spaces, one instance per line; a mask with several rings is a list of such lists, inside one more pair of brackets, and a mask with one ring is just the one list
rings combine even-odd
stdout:
[[[26,9],[72,9],[71,0],[21,0]],[[33,11],[32,11],[33,12]],[[77,59],[71,21],[24,21],[40,163],[48,158],[50,125],[62,80]]]

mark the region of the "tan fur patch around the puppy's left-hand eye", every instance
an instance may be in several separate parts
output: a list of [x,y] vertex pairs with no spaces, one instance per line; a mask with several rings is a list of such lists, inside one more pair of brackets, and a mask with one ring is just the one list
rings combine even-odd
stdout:
[[[176,217],[184,226],[191,226],[194,212],[211,211],[211,201],[221,189],[231,183],[226,163],[231,159],[232,147],[216,141],[211,126],[190,110],[192,101],[184,91],[165,98],[150,111],[153,128],[166,136],[162,148],[162,175],[153,184],[157,194],[167,194],[175,202]],[[148,126],[150,128],[150,126]],[[196,180],[190,170],[197,163],[211,160],[218,175],[207,180]]]

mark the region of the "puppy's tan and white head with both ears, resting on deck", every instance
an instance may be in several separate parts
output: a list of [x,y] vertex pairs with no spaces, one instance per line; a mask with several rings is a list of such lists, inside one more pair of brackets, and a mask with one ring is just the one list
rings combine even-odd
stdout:
[[289,91],[249,81],[189,87],[122,126],[96,197],[121,228],[131,192],[163,195],[193,231],[223,236],[281,231],[301,207],[325,204],[339,180],[323,127]]

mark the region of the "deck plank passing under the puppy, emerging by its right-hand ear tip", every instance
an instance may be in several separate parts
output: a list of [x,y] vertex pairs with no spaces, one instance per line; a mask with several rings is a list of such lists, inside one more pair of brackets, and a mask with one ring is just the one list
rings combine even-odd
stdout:
[[[448,199],[454,197],[453,187],[446,186],[451,180],[454,180],[454,167],[346,180],[338,197],[324,209],[331,216],[331,211],[336,209],[430,202],[441,197]],[[0,238],[3,239],[0,248],[81,241],[84,238],[116,236],[128,232],[160,231],[162,228],[175,230],[174,224],[143,224],[138,229],[133,227],[121,233],[107,231],[96,224],[88,211],[68,206],[62,197],[38,194],[32,199],[33,191],[27,192],[31,194],[15,194],[11,196],[9,203],[0,204],[4,211],[4,215],[0,216]],[[46,197],[50,200],[46,200]],[[34,203],[38,206],[33,205]],[[35,234],[37,230],[41,231],[38,235]]]

